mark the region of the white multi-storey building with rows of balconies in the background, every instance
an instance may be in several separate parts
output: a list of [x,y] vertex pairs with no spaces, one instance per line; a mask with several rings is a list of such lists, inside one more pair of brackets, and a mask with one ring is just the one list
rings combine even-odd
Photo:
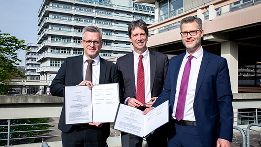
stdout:
[[103,30],[104,59],[129,52],[128,24],[143,19],[154,23],[154,5],[132,0],[43,0],[38,11],[37,68],[40,80],[52,80],[64,60],[83,54],[82,29],[95,25]]

